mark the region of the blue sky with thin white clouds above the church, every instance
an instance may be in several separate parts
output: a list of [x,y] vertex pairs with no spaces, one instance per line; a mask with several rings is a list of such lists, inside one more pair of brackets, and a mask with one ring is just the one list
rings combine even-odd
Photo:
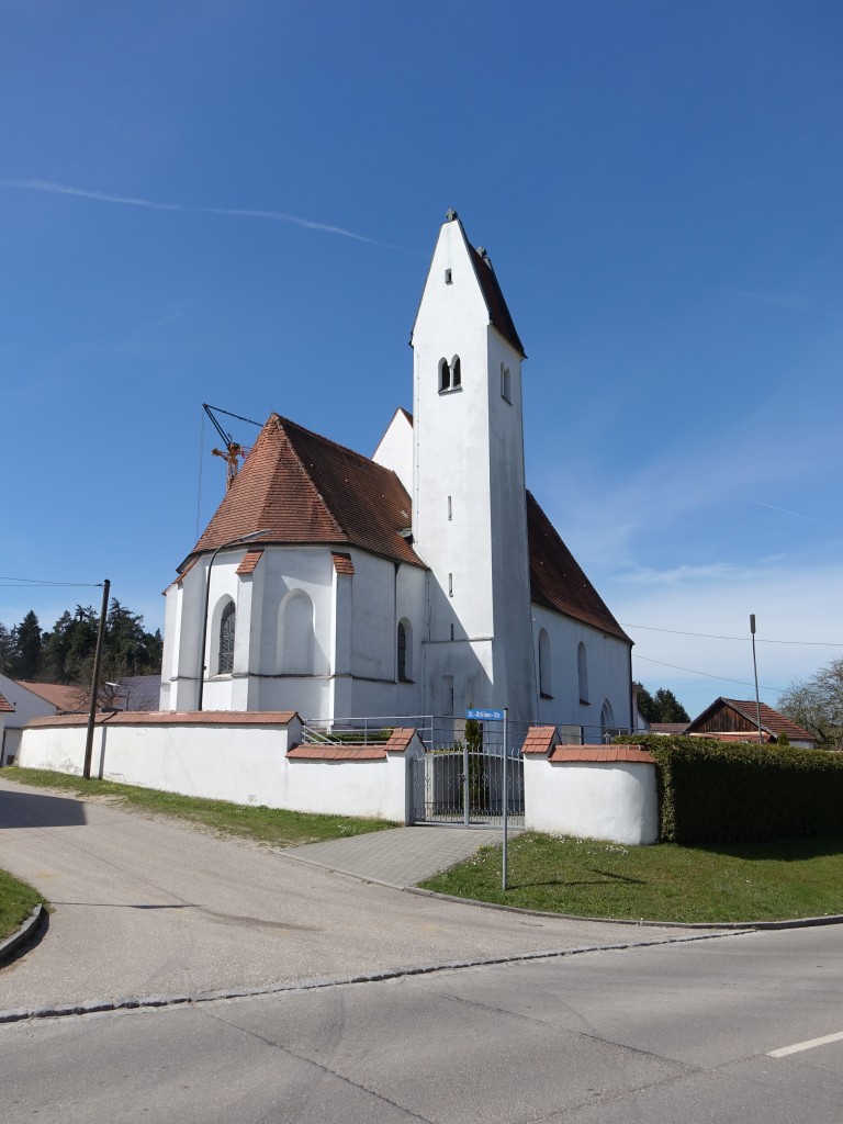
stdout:
[[0,0],[0,620],[163,624],[203,401],[371,453],[453,206],[636,678],[751,697],[755,613],[774,704],[843,654],[842,57],[836,0]]

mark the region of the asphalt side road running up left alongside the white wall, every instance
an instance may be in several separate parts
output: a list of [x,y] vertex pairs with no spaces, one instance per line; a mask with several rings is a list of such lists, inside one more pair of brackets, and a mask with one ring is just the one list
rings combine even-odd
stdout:
[[401,894],[1,779],[0,824],[0,867],[55,908],[40,944],[0,970],[0,1013],[687,936]]

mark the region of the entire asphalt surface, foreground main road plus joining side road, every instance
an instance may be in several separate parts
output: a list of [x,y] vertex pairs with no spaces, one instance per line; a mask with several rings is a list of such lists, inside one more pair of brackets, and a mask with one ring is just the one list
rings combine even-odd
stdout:
[[[500,913],[2,783],[0,824],[0,865],[56,905],[0,970],[0,1013],[163,1004],[0,1024],[0,1124],[843,1118],[840,926]],[[517,959],[537,952],[559,955]],[[436,968],[483,958],[511,959]],[[287,990],[207,997],[248,987]]]

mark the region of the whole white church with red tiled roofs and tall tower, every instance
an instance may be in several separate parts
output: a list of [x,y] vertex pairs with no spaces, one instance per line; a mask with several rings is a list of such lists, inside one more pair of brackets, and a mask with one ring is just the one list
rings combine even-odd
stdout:
[[371,457],[268,418],[166,590],[162,710],[632,726],[632,641],[526,489],[524,346],[453,210],[410,343]]

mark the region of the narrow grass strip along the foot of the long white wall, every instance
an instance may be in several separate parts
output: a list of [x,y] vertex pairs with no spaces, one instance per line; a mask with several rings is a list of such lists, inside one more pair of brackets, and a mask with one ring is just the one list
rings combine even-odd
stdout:
[[285,812],[264,805],[229,804],[201,797],[160,792],[153,788],[118,785],[110,780],[84,780],[82,777],[51,772],[45,769],[3,769],[4,780],[19,781],[81,797],[109,797],[127,812],[172,816],[192,824],[239,835],[271,846],[299,846],[323,840],[347,839],[366,832],[397,827],[388,819],[362,819],[355,816],[323,816],[305,812]]

